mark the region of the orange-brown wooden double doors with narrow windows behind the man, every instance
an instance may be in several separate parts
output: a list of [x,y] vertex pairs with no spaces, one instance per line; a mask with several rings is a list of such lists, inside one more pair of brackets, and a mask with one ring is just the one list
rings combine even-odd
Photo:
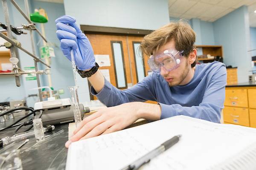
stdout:
[[[143,40],[143,37],[125,36],[125,35],[105,35],[105,34],[87,34],[88,39],[93,47],[95,55],[109,55],[111,66],[100,67],[99,69],[108,69],[110,74],[110,82],[113,86],[118,87],[118,80],[116,75],[116,64],[113,51],[113,43],[118,42],[122,48],[123,69],[125,73],[125,87],[119,89],[126,89],[135,85],[138,82],[138,75],[143,74],[144,77],[148,75],[150,68],[147,61],[148,56],[141,54],[143,62],[143,73],[138,74],[136,66],[136,53],[141,53],[135,45]],[[140,63],[141,64],[141,63]],[[141,66],[141,65],[140,65]],[[140,69],[142,71],[142,69]],[[89,84],[90,87],[90,84]],[[91,96],[91,99],[96,99],[96,96]]]

